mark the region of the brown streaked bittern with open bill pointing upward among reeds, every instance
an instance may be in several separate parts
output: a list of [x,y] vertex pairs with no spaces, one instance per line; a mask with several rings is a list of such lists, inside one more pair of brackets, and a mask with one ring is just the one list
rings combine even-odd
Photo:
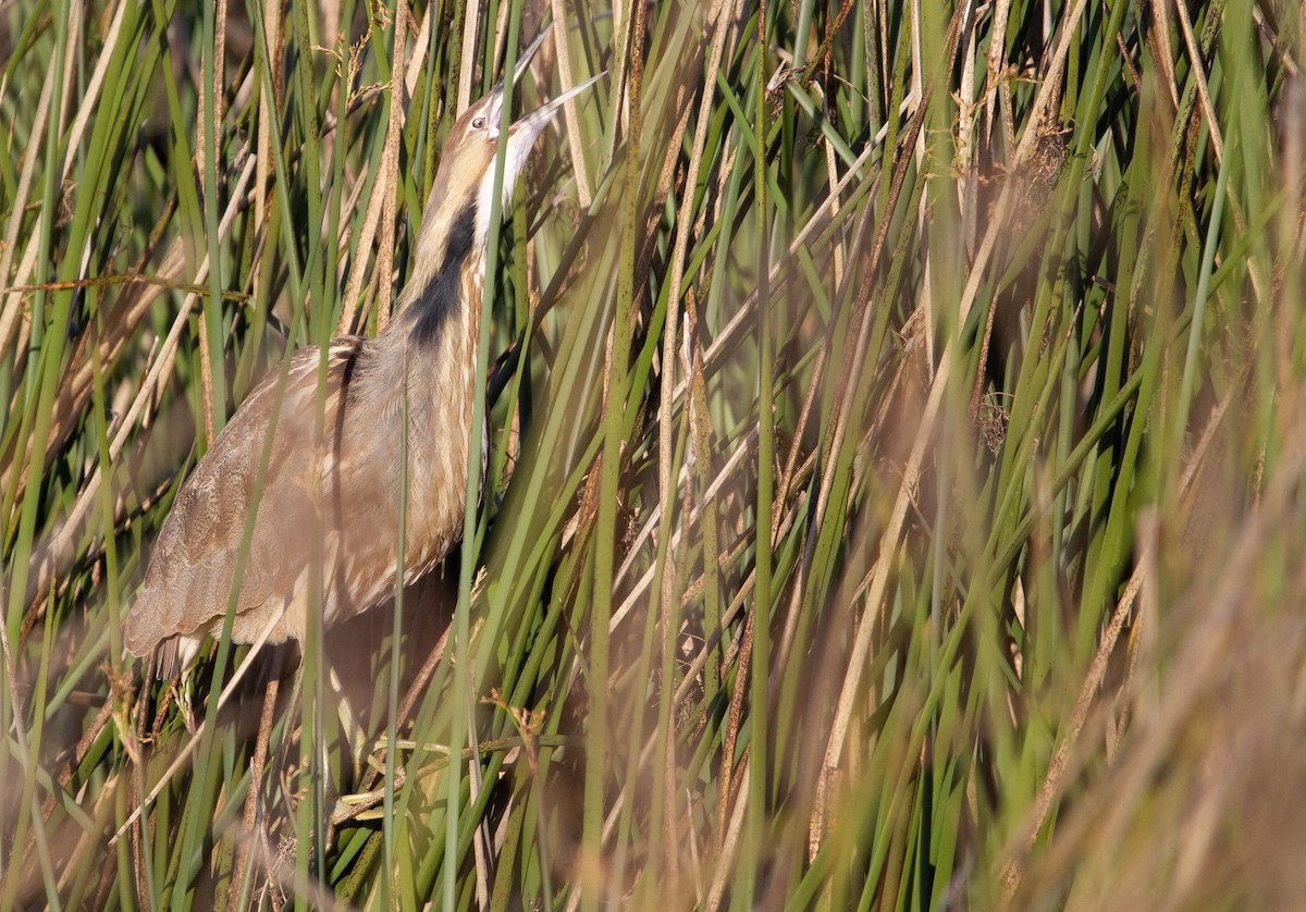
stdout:
[[[513,82],[538,47],[537,39],[522,55]],[[204,638],[222,630],[251,511],[234,642],[302,640],[310,568],[317,561],[328,625],[394,592],[405,414],[404,581],[427,574],[461,538],[495,154],[508,144],[507,208],[545,124],[593,81],[518,119],[507,133],[500,133],[500,82],[453,124],[394,320],[375,338],[330,342],[321,432],[321,353],[310,346],[293,355],[283,382],[278,371],[265,378],[214,439],[163,523],[123,631],[137,656],[159,649],[159,677],[188,665]],[[269,434],[270,459],[255,503]],[[482,485],[486,456],[482,444]]]

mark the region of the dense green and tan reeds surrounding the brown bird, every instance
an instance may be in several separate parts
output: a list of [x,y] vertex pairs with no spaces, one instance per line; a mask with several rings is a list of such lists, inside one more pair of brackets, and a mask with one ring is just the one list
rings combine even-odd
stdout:
[[[180,480],[549,20],[474,585],[141,686]],[[1297,907],[1303,22],[0,5],[0,909]]]

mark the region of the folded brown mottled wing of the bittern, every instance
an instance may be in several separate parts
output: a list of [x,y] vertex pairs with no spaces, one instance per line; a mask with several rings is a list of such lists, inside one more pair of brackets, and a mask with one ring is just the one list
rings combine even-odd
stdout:
[[[325,434],[338,422],[345,388],[367,342],[332,342],[326,363]],[[187,478],[163,523],[145,581],[127,618],[127,648],[144,655],[176,634],[201,631],[226,614],[269,432],[274,434],[238,611],[294,594],[321,521],[321,472],[330,449],[316,431],[320,349],[264,378]],[[273,426],[273,418],[276,422]]]

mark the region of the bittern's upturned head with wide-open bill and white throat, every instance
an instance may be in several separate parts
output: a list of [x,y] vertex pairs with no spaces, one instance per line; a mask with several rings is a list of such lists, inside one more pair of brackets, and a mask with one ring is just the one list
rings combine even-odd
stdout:
[[[505,86],[499,82],[481,101],[471,105],[449,129],[440,159],[440,170],[431,188],[431,199],[422,217],[422,236],[418,240],[418,257],[424,252],[436,255],[436,247],[444,244],[474,244],[483,248],[490,234],[490,216],[494,209],[495,155],[500,144],[507,144],[503,170],[503,196],[500,210],[512,201],[513,188],[521,176],[530,149],[547,123],[558,114],[563,103],[576,97],[602,77],[596,76],[564,91],[512,123],[507,132],[500,129],[503,106],[508,102],[512,85],[530,64],[545,35],[541,34],[521,55],[512,82]],[[428,251],[423,247],[430,244]]]

